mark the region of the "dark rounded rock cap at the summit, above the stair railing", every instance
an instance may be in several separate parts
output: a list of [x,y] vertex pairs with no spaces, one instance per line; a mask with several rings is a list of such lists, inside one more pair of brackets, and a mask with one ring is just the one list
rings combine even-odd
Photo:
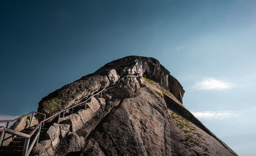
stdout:
[[[107,63],[95,73],[84,76],[42,98],[39,102],[38,112],[45,114],[53,113],[60,107],[74,102],[83,95],[108,86],[116,82],[119,77],[129,74],[142,74],[147,78],[155,80],[166,90],[174,93],[175,97],[182,102],[185,92],[183,87],[177,79],[169,75],[169,71],[158,60],[141,56],[127,56]],[[141,80],[139,82],[141,84]]]

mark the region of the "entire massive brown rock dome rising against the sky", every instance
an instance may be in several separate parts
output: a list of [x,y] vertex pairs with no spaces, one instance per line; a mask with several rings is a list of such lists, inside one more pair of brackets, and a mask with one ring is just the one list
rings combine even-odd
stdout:
[[184,93],[155,58],[114,60],[42,98],[48,117],[82,104],[49,120],[30,155],[237,155],[186,109]]

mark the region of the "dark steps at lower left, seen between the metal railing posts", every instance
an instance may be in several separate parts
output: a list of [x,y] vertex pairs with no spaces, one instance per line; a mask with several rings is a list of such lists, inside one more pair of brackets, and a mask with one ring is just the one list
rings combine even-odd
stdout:
[[[21,132],[29,133],[32,129],[33,128],[25,128]],[[41,128],[38,142],[42,141],[42,140],[46,140],[47,130],[48,130],[48,128]],[[32,140],[35,138],[35,136],[36,136],[36,133],[34,133],[34,135],[31,136],[30,144],[31,144]],[[16,137],[13,139],[12,142],[10,142],[10,144],[8,146],[0,146],[0,155],[1,156],[6,156],[6,155],[20,156],[20,155],[22,155],[22,152],[23,152],[24,143],[25,143],[25,138]]]

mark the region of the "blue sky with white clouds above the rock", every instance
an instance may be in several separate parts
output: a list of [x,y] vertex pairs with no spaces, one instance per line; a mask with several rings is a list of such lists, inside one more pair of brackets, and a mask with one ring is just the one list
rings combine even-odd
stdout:
[[256,1],[0,1],[0,120],[114,59],[148,56],[212,132],[255,155],[255,42]]

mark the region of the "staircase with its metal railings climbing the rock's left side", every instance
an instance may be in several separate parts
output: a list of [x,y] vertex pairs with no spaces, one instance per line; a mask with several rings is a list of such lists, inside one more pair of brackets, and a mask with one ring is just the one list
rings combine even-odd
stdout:
[[[65,107],[63,107],[63,108],[61,108],[60,109],[60,112],[58,112],[58,113],[56,113],[55,115],[52,115],[51,117],[49,117],[48,119],[50,119],[50,118],[57,118],[57,124],[59,124],[59,120],[60,120],[60,118],[63,118],[63,117],[66,117],[66,116],[69,116],[69,115],[71,115],[71,114],[74,114],[74,113],[76,113],[78,110],[80,110],[80,109],[87,109],[88,107],[87,107],[87,101],[89,100],[89,99],[91,99],[92,97],[100,97],[101,98],[101,96],[102,96],[102,93],[103,93],[103,95],[104,95],[104,93],[105,93],[105,91],[106,90],[110,90],[111,88],[112,88],[112,86],[115,84],[115,83],[119,83],[120,81],[124,81],[124,79],[126,78],[128,78],[128,77],[134,77],[134,78],[137,78],[137,77],[139,77],[139,76],[141,76],[142,77],[142,75],[138,75],[138,76],[131,76],[131,75],[127,75],[127,76],[125,76],[125,77],[123,77],[123,78],[120,78],[118,81],[116,81],[116,82],[114,82],[112,85],[110,85],[110,86],[108,86],[107,88],[108,89],[106,89],[106,88],[103,88],[102,90],[101,89],[99,89],[99,90],[97,90],[97,91],[94,91],[93,93],[90,93],[90,94],[88,94],[88,95],[86,95],[86,96],[84,96],[84,97],[81,97],[79,100],[77,100],[77,101],[75,101],[75,102],[73,102],[73,103],[70,103],[69,105],[67,105],[67,106],[65,106]],[[101,90],[101,91],[100,91]],[[104,92],[103,92],[104,91]],[[83,104],[83,105],[81,105],[81,104]],[[85,105],[85,107],[84,107],[84,105]],[[71,109],[72,108],[72,111],[70,112],[70,110],[69,109]],[[68,110],[68,111],[66,111],[66,110]],[[67,113],[66,113],[67,112]],[[41,114],[41,113],[38,113],[38,112],[31,112],[31,113],[33,113],[32,114],[32,117],[33,117],[33,115],[34,115],[34,113],[37,113],[37,114]],[[29,113],[29,114],[31,114],[31,113]],[[27,114],[27,115],[29,115],[29,114]],[[60,117],[60,114],[62,115],[61,117]],[[41,115],[45,115],[45,114],[41,114]],[[56,116],[56,115],[58,115],[58,116]],[[25,115],[24,115],[25,116]],[[22,117],[24,117],[24,116],[22,116]],[[17,118],[17,119],[20,119],[20,118],[22,118],[22,117],[19,117],[19,118]],[[45,118],[46,118],[46,115],[45,115]],[[48,119],[45,119],[44,118],[44,121],[43,122],[45,122],[46,120],[48,120]],[[17,119],[13,119],[13,120],[5,120],[5,121],[2,121],[2,122],[8,122],[7,123],[7,126],[6,126],[6,128],[8,127],[8,124],[9,124],[9,122],[12,122],[12,121],[16,121]],[[42,122],[42,121],[41,121]],[[27,134],[27,135],[29,135],[29,133],[31,132],[31,131],[33,131],[33,129],[37,129],[36,131],[34,131],[33,132],[33,135],[31,136],[31,138],[30,138],[30,141],[29,141],[29,145],[28,145],[28,147],[30,147],[30,145],[31,145],[31,143],[33,142],[33,140],[34,140],[34,138],[36,137],[36,135],[37,135],[37,132],[38,132],[38,126],[39,125],[41,125],[42,123],[39,123],[38,125],[36,125],[35,127],[30,127],[30,128],[25,128],[24,130],[22,130],[22,131],[20,131],[20,132],[22,132],[22,133],[25,133],[25,134]],[[50,124],[53,124],[53,123],[55,123],[55,121],[51,121],[50,122]],[[49,126],[49,125],[48,125]],[[0,131],[3,129],[3,126],[1,127],[0,126]],[[44,140],[48,140],[49,139],[49,137],[47,138],[47,131],[48,131],[48,129],[49,128],[40,128],[40,133],[39,133],[39,140],[38,140],[38,142],[40,142],[40,141],[44,141]],[[7,130],[8,130],[8,128],[7,128]],[[9,131],[10,131],[11,129],[9,129]],[[15,131],[15,130],[14,130]],[[12,133],[12,132],[11,132]],[[12,133],[12,134],[14,134],[14,133]],[[24,135],[25,135],[24,134]],[[20,133],[18,134],[18,135],[20,135]],[[15,135],[14,135],[15,136]],[[2,137],[2,136],[1,136]],[[1,139],[5,139],[5,137],[3,137],[3,138],[1,138],[0,137],[0,140]],[[1,140],[2,141],[2,140]],[[25,144],[25,141],[26,141],[26,139],[24,138],[24,137],[16,137],[15,136],[15,138],[13,138],[13,140],[9,143],[9,145],[8,146],[0,146],[0,156],[5,156],[5,155],[23,155],[23,150],[25,149],[25,146],[26,146],[26,144]],[[35,146],[35,144],[33,144],[32,146]],[[31,146],[31,147],[32,147]],[[27,153],[27,150],[28,149],[25,149],[25,153]],[[27,153],[27,154],[24,154],[24,155],[29,155],[29,153]]]

